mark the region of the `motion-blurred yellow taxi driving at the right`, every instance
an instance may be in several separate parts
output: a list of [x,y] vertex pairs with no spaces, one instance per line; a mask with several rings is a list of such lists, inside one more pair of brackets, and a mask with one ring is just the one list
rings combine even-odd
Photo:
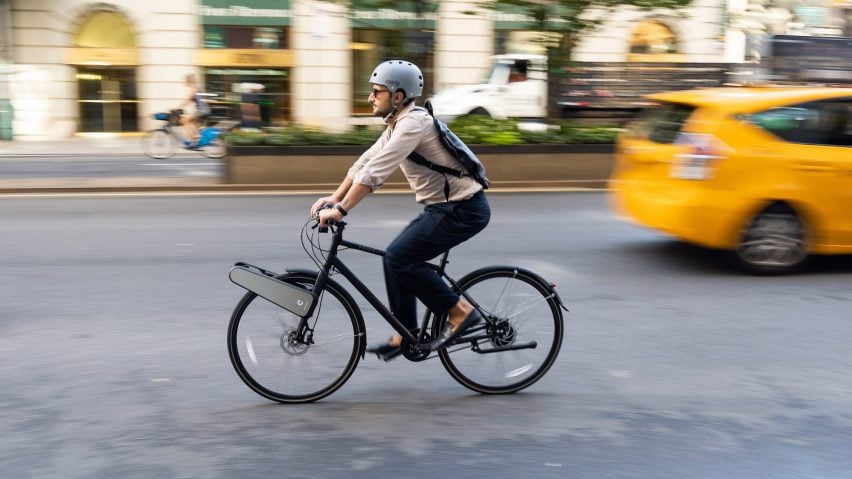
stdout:
[[748,270],[852,253],[852,88],[654,94],[621,135],[612,205]]

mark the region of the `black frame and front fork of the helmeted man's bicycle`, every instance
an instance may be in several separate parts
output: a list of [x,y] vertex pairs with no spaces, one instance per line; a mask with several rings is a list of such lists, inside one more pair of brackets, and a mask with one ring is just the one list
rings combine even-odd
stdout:
[[[378,249],[378,248],[373,248],[371,246],[366,246],[366,245],[363,245],[363,244],[360,244],[360,243],[355,243],[353,241],[343,239],[343,230],[346,228],[346,222],[344,222],[344,221],[336,222],[330,228],[331,228],[331,231],[332,231],[332,233],[331,233],[332,234],[331,247],[329,248],[328,255],[326,256],[325,264],[323,265],[322,269],[319,271],[319,274],[317,276],[317,281],[316,281],[316,284],[314,285],[314,291],[322,291],[325,288],[325,285],[328,281],[328,278],[331,276],[331,272],[333,270],[336,270],[337,272],[342,274],[343,277],[346,278],[352,284],[352,286],[354,286],[355,289],[358,290],[359,293],[361,293],[361,295],[364,297],[364,299],[367,300],[367,302],[369,302],[374,308],[376,308],[376,311],[385,319],[385,321],[388,322],[388,324],[391,325],[391,327],[393,327],[393,329],[396,332],[398,332],[403,337],[403,339],[409,345],[412,345],[415,348],[421,349],[421,350],[424,349],[424,348],[427,348],[428,343],[426,343],[424,341],[425,335],[426,335],[426,326],[428,325],[429,316],[431,314],[436,314],[436,313],[427,310],[423,314],[423,320],[422,320],[422,322],[420,324],[420,328],[419,328],[420,331],[419,331],[418,335],[415,337],[411,333],[411,331],[409,331],[405,327],[405,325],[403,325],[402,322],[399,319],[397,319],[396,316],[394,316],[394,314],[390,311],[390,309],[388,309],[388,307],[385,306],[385,304],[379,298],[377,298],[376,295],[372,291],[370,291],[370,289],[367,287],[367,285],[365,285],[360,279],[358,279],[358,277],[355,275],[355,273],[352,272],[352,270],[350,270],[343,263],[343,261],[340,258],[338,258],[338,256],[337,256],[338,248],[340,248],[341,246],[349,248],[349,249],[354,249],[354,250],[357,250],[357,251],[362,251],[362,252],[365,252],[365,253],[373,254],[373,255],[376,255],[376,256],[384,256],[385,251]],[[454,279],[450,278],[446,274],[445,268],[446,268],[447,263],[449,263],[449,260],[448,260],[449,255],[450,255],[450,252],[447,251],[443,255],[441,255],[441,259],[438,261],[438,264],[428,263],[428,265],[430,267],[432,267],[438,273],[438,275],[441,276],[441,278],[448,281],[450,283],[450,285],[456,291],[459,291],[459,293],[462,296],[464,296],[464,298],[474,308],[481,309],[479,304],[477,304],[473,300],[473,298],[471,298],[465,291],[462,291],[461,288],[459,288],[458,283],[456,283],[456,281]],[[316,309],[318,303],[319,303],[319,301],[314,301],[313,304],[311,305],[308,313],[304,317],[302,317],[302,320],[300,321],[299,327],[298,327],[300,337],[304,337],[302,335],[306,331],[308,319],[313,316],[314,310]]]

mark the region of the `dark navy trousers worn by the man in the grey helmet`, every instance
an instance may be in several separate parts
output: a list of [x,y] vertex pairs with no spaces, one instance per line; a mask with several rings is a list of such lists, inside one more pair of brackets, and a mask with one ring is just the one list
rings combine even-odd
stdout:
[[459,300],[426,262],[482,231],[489,219],[491,208],[482,191],[467,200],[427,205],[388,246],[388,305],[409,330],[418,326],[417,299],[436,313],[447,312]]

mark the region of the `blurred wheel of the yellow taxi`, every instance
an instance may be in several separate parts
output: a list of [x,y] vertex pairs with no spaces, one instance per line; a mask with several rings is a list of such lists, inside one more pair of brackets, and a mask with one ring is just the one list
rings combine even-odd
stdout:
[[746,223],[734,252],[752,273],[783,274],[800,267],[808,249],[804,220],[789,206],[774,204]]

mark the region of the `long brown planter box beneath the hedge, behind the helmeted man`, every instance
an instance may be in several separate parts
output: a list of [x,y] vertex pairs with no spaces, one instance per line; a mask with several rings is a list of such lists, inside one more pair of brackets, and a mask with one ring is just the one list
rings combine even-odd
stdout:
[[[366,146],[229,146],[225,182],[282,189],[334,189]],[[603,188],[613,145],[475,146],[492,188]],[[397,170],[384,188],[408,188]]]

